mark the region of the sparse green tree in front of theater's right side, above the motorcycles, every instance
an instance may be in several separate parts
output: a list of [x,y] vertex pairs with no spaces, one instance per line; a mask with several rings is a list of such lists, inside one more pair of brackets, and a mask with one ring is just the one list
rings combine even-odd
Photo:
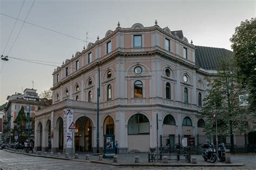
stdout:
[[245,107],[239,106],[239,95],[246,89],[238,81],[236,66],[232,60],[230,62],[221,61],[217,75],[207,79],[208,95],[204,98],[204,108],[199,117],[206,118],[206,134],[214,134],[213,111],[217,110],[218,134],[230,134],[233,146],[233,133],[249,131],[253,116],[248,114]]

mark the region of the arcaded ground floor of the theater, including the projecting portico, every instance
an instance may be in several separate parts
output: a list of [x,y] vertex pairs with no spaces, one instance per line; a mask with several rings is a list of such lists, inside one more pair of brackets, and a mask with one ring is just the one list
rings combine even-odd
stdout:
[[[95,103],[73,100],[39,110],[35,118],[35,150],[53,152],[96,152],[97,111]],[[65,111],[72,110],[76,125],[73,137],[65,130]],[[164,146],[174,146],[179,141],[174,136],[189,139],[187,145],[195,145],[198,139],[190,137],[204,135],[204,120],[196,117],[197,112],[164,106],[123,106],[100,109],[99,150],[103,151],[104,134],[114,134],[119,153],[148,152],[157,146],[160,136],[170,136],[162,141]],[[71,141],[71,148],[68,148]],[[160,145],[160,141],[159,141]]]

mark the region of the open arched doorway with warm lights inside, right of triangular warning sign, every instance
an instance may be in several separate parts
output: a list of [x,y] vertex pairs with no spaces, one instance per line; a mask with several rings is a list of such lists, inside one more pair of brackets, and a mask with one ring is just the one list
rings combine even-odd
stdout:
[[75,150],[92,151],[92,121],[89,117],[79,117],[75,123]]

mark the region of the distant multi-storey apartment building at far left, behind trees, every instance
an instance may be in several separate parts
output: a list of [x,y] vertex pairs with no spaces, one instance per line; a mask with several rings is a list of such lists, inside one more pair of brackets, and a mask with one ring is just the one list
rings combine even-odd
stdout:
[[[23,91],[23,94],[15,93],[14,95],[8,96],[6,98],[8,102],[5,104],[3,121],[3,138],[5,143],[16,141],[15,136],[18,136],[18,132],[13,133],[12,130],[14,129],[15,125],[14,121],[22,107],[24,107],[26,116],[30,117],[30,128],[33,128],[31,127],[31,121],[32,118],[35,117],[36,111],[51,104],[51,101],[46,100],[45,98],[39,98],[36,91],[37,90],[35,89],[26,88]],[[27,126],[27,129],[28,128],[29,127]],[[33,133],[30,134],[30,138],[32,140],[35,138]]]

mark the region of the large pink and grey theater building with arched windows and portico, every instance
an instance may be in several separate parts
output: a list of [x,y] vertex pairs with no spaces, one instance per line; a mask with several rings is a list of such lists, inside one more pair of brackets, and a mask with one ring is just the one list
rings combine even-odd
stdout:
[[157,22],[130,28],[118,23],[53,72],[53,103],[36,112],[35,149],[48,151],[51,141],[52,151],[70,152],[64,111],[72,110],[73,151],[96,152],[98,88],[101,152],[104,134],[115,135],[120,153],[149,151],[157,146],[157,134],[168,136],[163,144],[171,146],[178,135],[203,135],[204,120],[196,115],[205,77],[217,73],[215,59],[227,53],[232,52],[194,46],[182,31]]

